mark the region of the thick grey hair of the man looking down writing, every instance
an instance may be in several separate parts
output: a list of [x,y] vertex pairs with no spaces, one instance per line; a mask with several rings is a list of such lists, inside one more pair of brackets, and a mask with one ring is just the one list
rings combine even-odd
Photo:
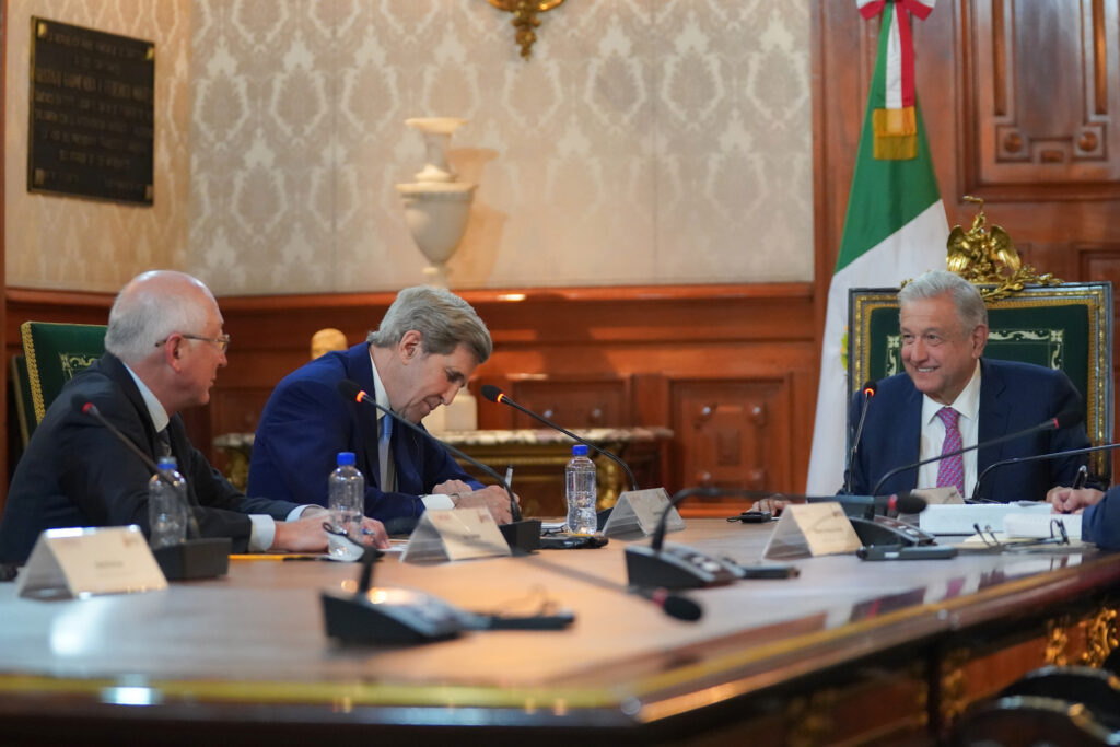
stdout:
[[420,333],[424,353],[449,355],[463,345],[483,364],[494,351],[489,330],[470,305],[449,290],[430,286],[414,286],[398,293],[381,326],[370,333],[366,342],[375,347],[393,347],[413,329]]

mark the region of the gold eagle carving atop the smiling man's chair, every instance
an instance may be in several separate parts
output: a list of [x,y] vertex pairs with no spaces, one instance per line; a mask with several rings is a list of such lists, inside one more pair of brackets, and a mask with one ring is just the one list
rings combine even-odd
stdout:
[[995,284],[996,288],[980,289],[980,295],[988,301],[1018,292],[1026,283],[1057,286],[1062,282],[1048,272],[1038,274],[1029,264],[1023,264],[1019,253],[1015,251],[1015,242],[1001,227],[988,228],[983,199],[971,195],[965,195],[964,199],[978,204],[977,214],[967,232],[961,226],[953,226],[949,232],[945,265],[950,271],[977,286]]

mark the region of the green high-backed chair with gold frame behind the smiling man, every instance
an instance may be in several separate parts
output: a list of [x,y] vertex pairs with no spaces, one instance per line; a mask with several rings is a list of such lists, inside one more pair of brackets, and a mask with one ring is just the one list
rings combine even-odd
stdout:
[[[853,288],[848,293],[848,385],[903,372],[898,289]],[[1094,445],[1112,442],[1112,283],[1027,286],[988,301],[984,356],[1060,368],[1085,400]],[[1093,469],[1111,473],[1107,452]]]

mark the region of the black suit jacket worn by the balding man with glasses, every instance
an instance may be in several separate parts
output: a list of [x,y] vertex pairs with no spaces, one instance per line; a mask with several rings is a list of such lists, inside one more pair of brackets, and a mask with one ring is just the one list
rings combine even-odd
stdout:
[[[148,408],[124,364],[110,353],[63,389],[31,435],[19,460],[0,519],[0,560],[24,562],[39,533],[62,526],[139,524],[148,533],[151,470],[74,402],[101,413],[156,458],[157,436]],[[171,450],[187,480],[187,495],[203,536],[228,536],[235,552],[249,545],[246,514],[283,520],[296,504],[248,498],[187,440],[183,420],[168,424]]]

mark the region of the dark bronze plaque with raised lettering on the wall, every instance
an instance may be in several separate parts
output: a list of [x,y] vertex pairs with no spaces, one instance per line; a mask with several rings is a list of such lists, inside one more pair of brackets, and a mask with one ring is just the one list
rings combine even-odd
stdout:
[[156,45],[31,18],[27,188],[152,204]]

